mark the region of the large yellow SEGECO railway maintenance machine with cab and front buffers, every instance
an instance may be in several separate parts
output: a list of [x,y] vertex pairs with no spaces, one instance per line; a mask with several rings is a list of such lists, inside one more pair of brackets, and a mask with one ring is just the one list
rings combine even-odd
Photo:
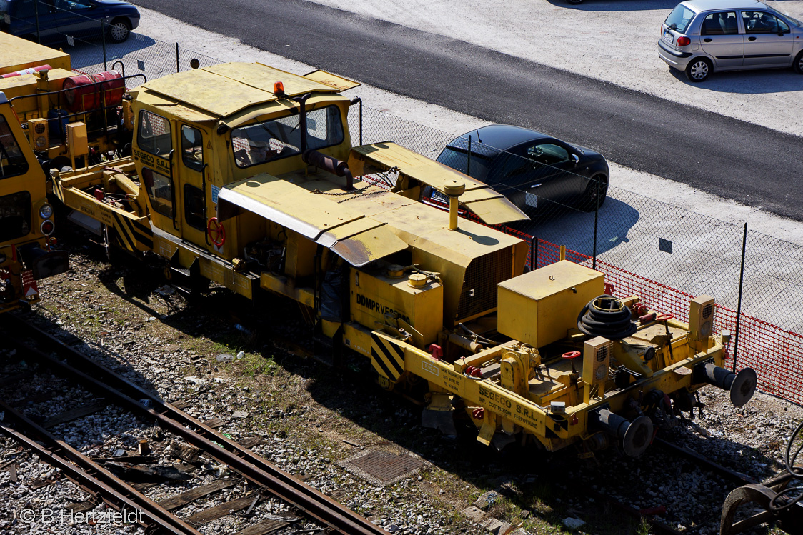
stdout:
[[[526,218],[503,196],[391,142],[352,146],[340,92],[356,86],[259,63],[153,80],[130,92],[132,157],[56,172],[55,194],[175,276],[296,300],[329,341],[319,357],[356,352],[387,389],[425,384],[424,424],[454,432],[464,410],[483,443],[614,437],[638,455],[650,417],[671,423],[701,386],[752,396],[752,370],[719,367],[713,300],[692,300],[686,325],[604,296],[581,265],[524,273],[526,243],[458,224],[459,206],[489,224]],[[422,186],[450,212],[418,202]]]

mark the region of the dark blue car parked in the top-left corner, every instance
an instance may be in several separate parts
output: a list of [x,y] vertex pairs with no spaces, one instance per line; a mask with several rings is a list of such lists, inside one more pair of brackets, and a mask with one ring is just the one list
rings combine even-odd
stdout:
[[137,7],[121,0],[0,0],[0,31],[41,43],[96,38],[102,27],[122,43],[139,23]]

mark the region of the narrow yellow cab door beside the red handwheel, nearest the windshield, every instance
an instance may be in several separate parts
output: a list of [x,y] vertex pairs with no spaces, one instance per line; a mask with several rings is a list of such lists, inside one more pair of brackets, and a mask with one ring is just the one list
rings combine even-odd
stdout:
[[204,150],[208,136],[202,130],[186,124],[179,124],[179,146],[181,153],[176,158],[178,191],[181,210],[178,227],[181,238],[198,247],[208,248],[206,235],[206,176],[208,165]]

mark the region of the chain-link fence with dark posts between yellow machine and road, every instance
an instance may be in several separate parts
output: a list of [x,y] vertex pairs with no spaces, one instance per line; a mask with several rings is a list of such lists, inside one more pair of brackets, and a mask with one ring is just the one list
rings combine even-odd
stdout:
[[[124,43],[71,41],[75,46],[65,50],[73,68],[84,72],[117,69],[151,80],[192,68],[192,59],[200,66],[221,63],[137,34]],[[803,403],[803,318],[797,313],[803,247],[608,186],[601,173],[575,174],[585,172],[585,163],[573,161],[577,150],[567,157],[555,148],[565,149],[562,144],[542,146],[542,153],[537,143],[530,151],[503,152],[474,133],[447,133],[362,102],[349,112],[349,129],[354,145],[394,141],[432,159],[443,153],[442,163],[503,191],[531,218],[504,229],[535,246],[531,265],[555,262],[563,245],[568,259],[604,272],[617,295],[641,296],[681,321],[688,319],[692,296],[715,296],[716,328],[738,331],[729,348],[737,353],[732,365],[752,366],[762,390]],[[508,182],[506,174],[513,177]],[[441,204],[437,195],[430,202]]]

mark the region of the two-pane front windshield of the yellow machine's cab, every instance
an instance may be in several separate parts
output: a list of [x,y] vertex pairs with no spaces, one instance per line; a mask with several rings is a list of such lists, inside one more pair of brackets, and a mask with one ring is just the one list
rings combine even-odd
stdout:
[[[231,131],[231,147],[238,167],[250,167],[301,153],[298,113],[265,120]],[[307,112],[307,148],[323,149],[343,142],[340,108],[327,106]]]

